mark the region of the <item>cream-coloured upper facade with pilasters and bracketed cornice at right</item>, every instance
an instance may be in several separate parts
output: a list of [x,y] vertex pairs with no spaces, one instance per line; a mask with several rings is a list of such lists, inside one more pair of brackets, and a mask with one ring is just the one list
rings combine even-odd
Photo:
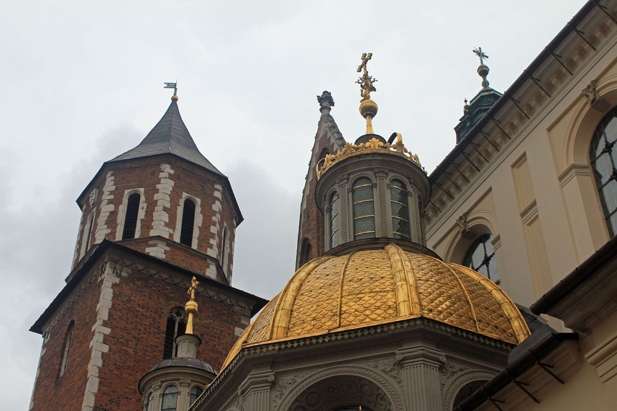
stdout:
[[[615,7],[609,2],[613,14]],[[487,138],[471,137],[479,153],[468,145],[463,149],[471,161],[455,157],[462,173],[442,163],[449,175],[431,175],[429,248],[461,264],[474,235],[492,234],[499,286],[524,306],[610,238],[589,145],[600,119],[617,105],[617,25],[595,7],[578,28],[584,39],[574,32],[566,37],[555,50],[561,59],[549,54],[532,73],[539,81],[524,81],[513,92],[516,101],[492,114],[498,122],[484,123]],[[593,105],[582,93],[592,80]],[[463,213],[473,233],[467,238],[457,224]]]

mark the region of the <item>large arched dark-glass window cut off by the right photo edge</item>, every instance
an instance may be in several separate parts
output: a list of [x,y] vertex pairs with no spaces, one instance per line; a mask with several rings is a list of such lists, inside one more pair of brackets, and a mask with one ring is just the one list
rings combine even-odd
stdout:
[[617,107],[602,118],[589,149],[590,165],[611,237],[617,234]]

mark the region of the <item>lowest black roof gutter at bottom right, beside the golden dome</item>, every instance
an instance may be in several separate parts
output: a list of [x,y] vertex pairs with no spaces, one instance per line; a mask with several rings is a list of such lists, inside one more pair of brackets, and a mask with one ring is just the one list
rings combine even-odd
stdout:
[[538,338],[534,339],[530,336],[519,344],[516,349],[519,349],[520,354],[514,359],[508,358],[508,365],[499,374],[474,391],[471,396],[467,397],[465,401],[452,411],[471,411],[476,409],[514,381],[516,377],[523,375],[523,373],[531,369],[539,360],[555,351],[563,341],[578,339],[577,333],[558,333],[548,325],[540,328],[534,334],[540,336],[539,341],[537,341]]

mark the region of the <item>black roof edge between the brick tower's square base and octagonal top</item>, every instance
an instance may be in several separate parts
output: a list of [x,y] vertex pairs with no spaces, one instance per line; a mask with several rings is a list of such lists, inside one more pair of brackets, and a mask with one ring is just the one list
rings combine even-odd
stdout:
[[75,287],[77,287],[77,284],[81,281],[81,279],[83,279],[83,277],[86,275],[88,270],[98,261],[101,255],[108,248],[117,248],[118,250],[125,251],[126,253],[133,254],[141,258],[149,259],[150,261],[157,262],[157,264],[162,264],[163,266],[176,269],[178,271],[183,272],[184,274],[188,274],[191,276],[194,275],[195,277],[199,279],[200,282],[204,281],[206,283],[209,283],[209,285],[222,288],[225,291],[231,291],[232,293],[241,295],[243,298],[253,300],[255,301],[255,303],[251,310],[251,316],[257,314],[257,312],[259,312],[259,310],[262,309],[263,306],[265,306],[265,304],[268,303],[267,299],[261,298],[251,293],[247,293],[246,291],[239,290],[239,288],[231,287],[231,285],[226,285],[224,283],[218,282],[217,280],[213,280],[210,277],[206,277],[203,274],[199,274],[198,272],[194,272],[184,267],[180,267],[177,264],[173,264],[172,262],[168,262],[160,258],[153,257],[149,254],[144,254],[141,251],[133,250],[133,248],[120,245],[110,240],[103,240],[101,243],[99,243],[99,245],[96,246],[96,249],[93,251],[90,257],[85,262],[83,262],[83,264],[78,269],[78,271],[75,273],[75,275],[73,275],[73,277],[68,281],[67,285],[65,285],[64,288],[60,290],[56,298],[54,298],[51,304],[49,304],[49,306],[45,309],[45,311],[43,311],[43,314],[41,314],[38,320],[35,321],[35,324],[33,324],[32,327],[30,327],[31,332],[37,333],[37,334],[43,333],[41,330],[43,325],[49,320],[49,318],[54,314],[54,312],[56,312],[56,310],[58,309],[60,304],[62,304],[62,302],[68,296],[68,294],[71,291],[73,291]]

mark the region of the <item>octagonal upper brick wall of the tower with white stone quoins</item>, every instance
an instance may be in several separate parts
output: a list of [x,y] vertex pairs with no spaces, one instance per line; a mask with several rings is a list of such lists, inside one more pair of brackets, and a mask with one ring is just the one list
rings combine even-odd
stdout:
[[[173,156],[158,156],[143,158],[122,163],[109,163],[102,173],[89,185],[83,198],[82,218],[78,230],[78,238],[73,258],[73,268],[78,265],[87,248],[99,243],[103,238],[119,240],[123,229],[123,214],[126,193],[128,190],[139,190],[143,193],[140,218],[138,222],[139,238],[152,238],[149,247],[139,248],[139,251],[166,259],[180,266],[190,253],[169,250],[169,242],[179,240],[177,227],[181,216],[183,201],[189,196],[199,203],[196,217],[196,250],[220,260],[222,250],[223,227],[228,227],[229,254],[226,258],[225,272],[231,279],[233,270],[233,244],[236,222],[228,193],[223,189],[223,178],[216,174],[203,171],[188,161],[177,160]],[[94,192],[94,202],[90,204],[89,195]],[[94,211],[96,227],[91,230],[88,241],[84,236],[88,233],[89,216]],[[136,243],[137,244],[137,243]],[[86,248],[87,245],[87,248]],[[127,243],[131,246],[130,243]],[[138,248],[136,248],[138,249]],[[195,269],[195,264],[187,268]],[[216,277],[215,266],[209,266],[208,275]]]

